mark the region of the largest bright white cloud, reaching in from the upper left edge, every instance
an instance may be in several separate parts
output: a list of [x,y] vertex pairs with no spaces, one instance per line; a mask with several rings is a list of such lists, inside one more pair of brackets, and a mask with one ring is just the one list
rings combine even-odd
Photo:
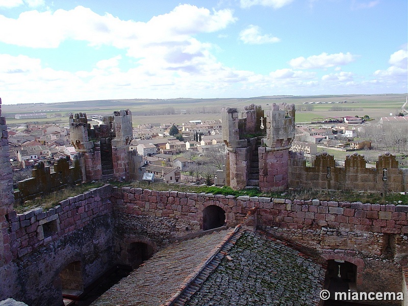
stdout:
[[[134,80],[154,76],[160,84],[169,84],[177,73],[212,75],[219,72],[221,65],[210,53],[213,46],[193,36],[222,30],[235,21],[232,10],[211,12],[191,5],[180,5],[148,22],[123,21],[108,13],[100,16],[78,6],[70,11],[24,12],[17,19],[0,16],[0,28],[10,29],[8,33],[0,32],[0,41],[42,48],[57,48],[69,39],[86,41],[90,46],[112,45],[125,49],[126,56],[137,59],[140,77]],[[112,73],[119,60],[116,57],[100,61],[95,71]],[[95,71],[81,71],[76,76],[93,78],[94,81],[97,78]],[[122,75],[118,75],[118,79]],[[142,81],[138,84],[147,86]]]

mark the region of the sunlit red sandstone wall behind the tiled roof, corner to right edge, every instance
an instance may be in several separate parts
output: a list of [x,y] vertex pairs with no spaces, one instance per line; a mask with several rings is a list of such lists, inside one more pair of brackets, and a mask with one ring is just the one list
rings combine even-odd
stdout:
[[[123,228],[123,239],[150,239],[160,245],[168,242],[164,236],[175,239],[188,234],[185,226],[200,230],[202,211],[209,205],[224,209],[230,225],[243,221],[250,209],[257,208],[250,219],[270,235],[298,244],[322,259],[355,264],[358,290],[401,291],[399,262],[408,256],[408,206],[236,198],[139,188],[113,190],[114,211],[120,216],[118,227]],[[138,234],[133,236],[132,231]]]

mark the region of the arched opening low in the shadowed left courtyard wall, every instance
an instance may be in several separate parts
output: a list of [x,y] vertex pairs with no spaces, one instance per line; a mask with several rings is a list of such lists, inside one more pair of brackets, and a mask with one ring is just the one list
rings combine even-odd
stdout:
[[76,298],[84,292],[82,265],[80,261],[68,264],[60,273],[62,296]]

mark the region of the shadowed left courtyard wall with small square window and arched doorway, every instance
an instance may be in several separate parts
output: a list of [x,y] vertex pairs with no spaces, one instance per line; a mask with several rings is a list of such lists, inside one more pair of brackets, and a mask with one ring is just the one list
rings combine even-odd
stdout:
[[60,272],[81,263],[83,287],[116,262],[111,186],[92,189],[41,208],[6,215],[11,249],[0,267],[0,300],[13,297],[30,306],[62,304]]

